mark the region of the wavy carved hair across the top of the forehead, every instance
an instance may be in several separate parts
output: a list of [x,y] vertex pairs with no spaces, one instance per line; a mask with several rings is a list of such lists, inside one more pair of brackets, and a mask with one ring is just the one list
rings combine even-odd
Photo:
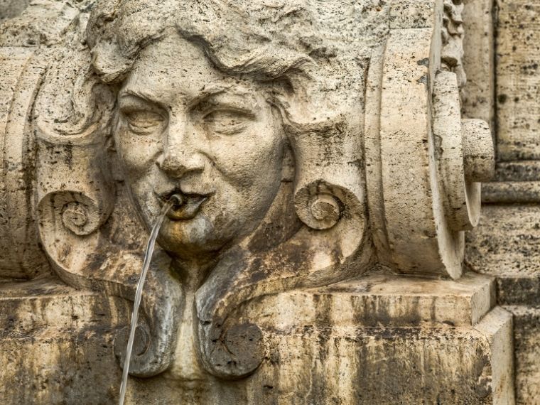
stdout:
[[[258,18],[239,9],[237,1],[106,3],[107,7],[96,7],[87,25],[92,64],[104,82],[123,80],[140,50],[165,35],[167,28],[175,28],[180,36],[200,45],[217,69],[229,74],[268,80],[313,62],[307,49],[292,48],[298,41],[287,38],[285,42],[284,38],[276,38],[276,33],[262,32]],[[264,11],[274,11],[276,15],[272,17],[278,20],[293,11],[301,12],[271,8]],[[302,23],[306,25],[306,21]]]

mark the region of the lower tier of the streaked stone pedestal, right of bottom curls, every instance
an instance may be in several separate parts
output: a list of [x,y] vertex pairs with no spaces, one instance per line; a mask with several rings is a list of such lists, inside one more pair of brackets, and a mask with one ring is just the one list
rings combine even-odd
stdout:
[[269,346],[249,404],[514,401],[512,316],[498,307],[476,327],[293,328]]

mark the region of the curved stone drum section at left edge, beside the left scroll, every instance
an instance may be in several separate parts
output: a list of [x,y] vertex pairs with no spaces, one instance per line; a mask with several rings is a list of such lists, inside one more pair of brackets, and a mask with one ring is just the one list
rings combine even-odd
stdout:
[[48,60],[13,46],[0,48],[0,64],[0,277],[29,279],[48,271],[34,217],[36,143],[28,120]]

